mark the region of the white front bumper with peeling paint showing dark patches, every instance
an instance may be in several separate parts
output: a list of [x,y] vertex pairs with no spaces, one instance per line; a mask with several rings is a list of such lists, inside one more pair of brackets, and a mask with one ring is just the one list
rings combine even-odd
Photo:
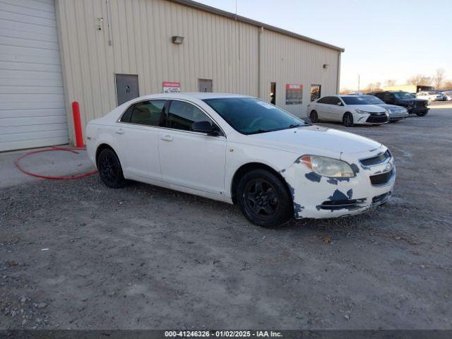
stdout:
[[387,148],[343,156],[341,160],[351,165],[355,177],[323,177],[299,162],[285,170],[283,176],[290,186],[295,218],[355,215],[386,203],[391,198],[396,167]]

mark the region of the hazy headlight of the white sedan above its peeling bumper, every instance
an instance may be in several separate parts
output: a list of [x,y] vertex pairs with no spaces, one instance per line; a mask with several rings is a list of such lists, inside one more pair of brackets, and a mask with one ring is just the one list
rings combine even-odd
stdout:
[[352,178],[355,177],[352,167],[347,162],[331,157],[319,157],[317,155],[303,155],[299,158],[306,167],[324,177]]

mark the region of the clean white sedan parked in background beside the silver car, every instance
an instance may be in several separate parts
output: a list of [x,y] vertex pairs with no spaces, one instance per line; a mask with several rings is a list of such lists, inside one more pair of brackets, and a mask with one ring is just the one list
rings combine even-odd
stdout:
[[389,121],[386,109],[372,104],[367,95],[321,97],[308,105],[307,116],[314,123],[319,120],[340,121],[347,127],[386,124]]

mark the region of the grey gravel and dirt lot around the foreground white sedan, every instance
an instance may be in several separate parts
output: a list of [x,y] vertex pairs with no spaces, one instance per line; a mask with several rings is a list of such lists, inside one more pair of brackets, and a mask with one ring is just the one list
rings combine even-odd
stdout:
[[357,217],[266,230],[97,176],[1,189],[0,328],[452,328],[452,108],[434,107],[351,129],[398,170]]

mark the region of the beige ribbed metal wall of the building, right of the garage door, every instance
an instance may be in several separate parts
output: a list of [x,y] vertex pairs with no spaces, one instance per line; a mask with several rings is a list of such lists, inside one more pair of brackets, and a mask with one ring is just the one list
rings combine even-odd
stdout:
[[[197,91],[198,78],[207,78],[213,79],[214,92],[258,96],[260,90],[269,100],[275,81],[277,105],[300,116],[311,83],[321,84],[324,95],[336,92],[339,52],[334,49],[269,30],[261,31],[259,43],[261,29],[255,25],[167,0],[56,4],[66,110],[71,114],[71,102],[78,101],[83,126],[116,107],[114,73],[138,74],[141,95],[160,93],[162,81],[179,81],[182,91]],[[183,36],[184,43],[172,44],[173,35]],[[286,83],[304,85],[303,105],[284,105]]]

